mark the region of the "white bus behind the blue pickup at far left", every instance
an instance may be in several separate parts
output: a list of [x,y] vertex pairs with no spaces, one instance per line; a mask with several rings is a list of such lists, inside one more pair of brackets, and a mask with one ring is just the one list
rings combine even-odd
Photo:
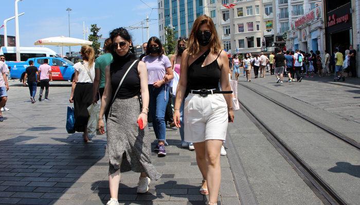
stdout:
[[[6,61],[16,61],[16,47],[1,47],[0,55],[5,55]],[[20,47],[20,61],[33,57],[57,57],[57,53],[45,47]]]

